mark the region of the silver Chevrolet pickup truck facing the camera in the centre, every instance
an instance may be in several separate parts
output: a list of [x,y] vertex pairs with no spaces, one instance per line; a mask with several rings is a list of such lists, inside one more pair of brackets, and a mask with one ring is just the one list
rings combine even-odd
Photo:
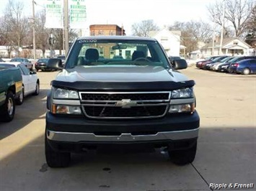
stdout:
[[[162,148],[178,165],[193,162],[199,121],[194,80],[147,37],[79,37],[51,82],[45,127],[49,167],[67,167],[89,149]],[[174,68],[175,67],[175,68]]]

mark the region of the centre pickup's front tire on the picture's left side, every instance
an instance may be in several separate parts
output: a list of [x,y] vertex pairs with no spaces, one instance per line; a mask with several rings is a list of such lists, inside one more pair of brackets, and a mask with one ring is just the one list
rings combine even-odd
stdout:
[[54,151],[47,140],[45,130],[45,159],[49,167],[69,167],[71,162],[71,154],[69,152],[56,152]]

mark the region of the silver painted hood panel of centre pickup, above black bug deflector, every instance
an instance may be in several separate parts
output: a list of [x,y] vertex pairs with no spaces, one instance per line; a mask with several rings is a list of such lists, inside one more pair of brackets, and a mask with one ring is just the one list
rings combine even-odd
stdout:
[[74,83],[87,82],[181,82],[188,80],[185,75],[160,66],[77,66],[63,69],[56,80]]

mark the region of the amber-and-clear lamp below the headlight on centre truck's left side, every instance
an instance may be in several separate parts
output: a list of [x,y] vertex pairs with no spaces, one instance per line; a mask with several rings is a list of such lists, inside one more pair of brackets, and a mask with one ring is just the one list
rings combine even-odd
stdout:
[[65,106],[65,105],[52,104],[51,112],[54,114],[80,115],[81,108],[80,106]]

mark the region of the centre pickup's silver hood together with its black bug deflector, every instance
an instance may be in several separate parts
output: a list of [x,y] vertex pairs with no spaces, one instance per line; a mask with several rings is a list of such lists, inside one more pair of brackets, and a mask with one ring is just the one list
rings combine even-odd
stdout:
[[153,66],[79,66],[63,70],[53,87],[87,91],[162,91],[190,88],[194,80]]

